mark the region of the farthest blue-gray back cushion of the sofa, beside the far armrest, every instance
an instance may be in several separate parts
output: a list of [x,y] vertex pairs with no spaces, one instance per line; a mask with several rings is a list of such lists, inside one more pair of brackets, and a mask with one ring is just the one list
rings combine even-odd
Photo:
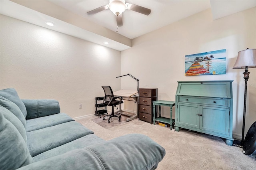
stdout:
[[24,117],[26,118],[27,116],[26,107],[24,103],[20,100],[20,97],[18,96],[18,93],[14,88],[0,90],[0,96],[5,97],[6,99],[15,103],[20,108],[20,111],[22,111]]

